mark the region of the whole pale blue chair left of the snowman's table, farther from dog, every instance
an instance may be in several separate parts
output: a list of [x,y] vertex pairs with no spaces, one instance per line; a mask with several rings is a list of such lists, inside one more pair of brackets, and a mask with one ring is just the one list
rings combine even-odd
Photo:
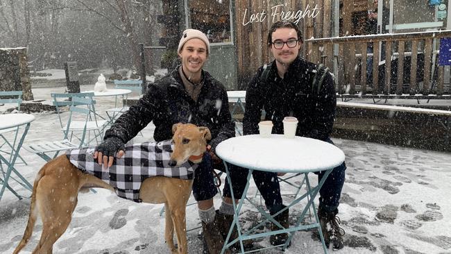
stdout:
[[[108,121],[105,119],[97,119],[99,115],[97,115],[94,105],[96,101],[93,99],[93,92],[85,92],[85,93],[74,93],[74,94],[56,94],[52,93],[51,97],[53,98],[53,105],[56,107],[56,112],[58,113],[58,119],[60,120],[61,130],[65,132],[65,138],[72,141],[73,137],[76,137],[81,141],[80,137],[75,135],[74,133],[83,132],[83,134],[87,134],[87,139],[83,139],[85,145],[89,145],[91,141],[94,139],[96,143],[99,144],[99,139],[101,141],[102,134],[105,131],[106,125]],[[71,101],[69,101],[71,99]],[[74,101],[75,99],[75,101]],[[73,105],[77,107],[85,107],[90,111],[90,114],[87,116],[86,121],[78,121],[77,119],[72,119],[72,114],[69,115],[69,121],[66,126],[62,124],[62,112],[61,107]],[[70,128],[67,128],[69,126]],[[70,135],[69,135],[70,133]],[[91,137],[91,133],[94,133],[94,137]],[[82,142],[82,143],[83,143]]]

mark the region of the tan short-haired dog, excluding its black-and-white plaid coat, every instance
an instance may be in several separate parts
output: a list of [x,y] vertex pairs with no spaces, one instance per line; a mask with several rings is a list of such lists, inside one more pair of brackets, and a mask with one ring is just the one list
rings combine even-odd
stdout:
[[[172,166],[190,160],[202,161],[207,140],[211,139],[210,130],[194,124],[174,124],[172,127],[174,149],[171,153]],[[166,209],[166,231],[164,238],[171,253],[187,253],[187,234],[185,207],[191,194],[193,180],[155,176],[147,178],[139,189],[139,198],[145,203],[164,203]],[[33,233],[33,227],[39,214],[42,219],[42,235],[33,251],[35,254],[50,254],[53,244],[66,231],[71,222],[72,212],[77,205],[78,192],[88,187],[114,189],[88,173],[74,167],[66,155],[47,162],[37,173],[31,196],[30,215],[24,237],[14,253],[24,248]],[[54,192],[58,189],[58,192]],[[178,249],[173,243],[173,230],[176,230]]]

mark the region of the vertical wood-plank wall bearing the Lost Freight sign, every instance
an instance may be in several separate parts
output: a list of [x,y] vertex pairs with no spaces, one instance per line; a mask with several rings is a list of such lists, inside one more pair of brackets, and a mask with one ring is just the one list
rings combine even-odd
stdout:
[[[316,5],[318,6],[318,15],[315,18],[306,16],[298,22],[300,30],[303,31],[304,39],[330,37],[332,34],[332,0],[236,0],[235,42],[237,44],[238,89],[246,88],[248,81],[255,75],[258,67],[273,60],[266,42],[269,28],[273,24],[273,17],[271,16],[273,7],[279,4],[284,6],[278,10],[293,12],[304,11],[307,5],[309,5],[309,10],[312,10]],[[262,13],[263,10],[266,13],[266,19],[263,22],[246,24],[249,22],[250,15]],[[278,19],[275,19],[275,21],[278,21]],[[301,53],[307,56],[312,51],[311,49],[302,49]]]

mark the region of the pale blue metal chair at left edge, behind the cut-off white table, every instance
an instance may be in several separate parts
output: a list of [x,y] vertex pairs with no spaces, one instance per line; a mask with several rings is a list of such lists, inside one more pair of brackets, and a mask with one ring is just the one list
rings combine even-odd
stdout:
[[[22,91],[0,92],[0,103],[1,104],[6,104],[6,103],[15,104],[15,105],[17,105],[17,111],[20,111],[20,104],[22,103],[22,93],[23,93]],[[1,140],[2,143],[0,144],[0,153],[6,153],[6,154],[10,155],[10,159],[9,159],[10,162],[12,159],[11,155],[14,154],[14,152],[15,152],[13,147],[14,147],[15,142],[17,141],[17,136],[15,137],[13,144],[11,144],[10,142],[8,142],[8,139],[6,139],[4,134],[15,131],[17,128],[9,128],[6,130],[0,130],[0,138],[3,139],[3,140]],[[3,146],[5,146],[6,149],[3,149]],[[22,160],[21,163],[26,164],[24,158],[22,158],[20,155],[17,155],[17,158],[19,160]]]

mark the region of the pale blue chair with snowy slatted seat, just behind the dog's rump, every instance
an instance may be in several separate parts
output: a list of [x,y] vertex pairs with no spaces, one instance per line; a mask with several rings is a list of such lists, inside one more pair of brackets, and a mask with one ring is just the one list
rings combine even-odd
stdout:
[[[87,103],[90,103],[89,98],[83,98],[83,97],[77,97],[72,96],[71,97],[71,105],[69,108],[69,119],[67,120],[67,124],[65,126],[65,130],[63,130],[63,133],[65,134],[65,137],[61,141],[52,141],[52,142],[38,142],[33,144],[24,144],[24,149],[26,151],[29,151],[31,153],[35,153],[39,155],[42,159],[45,161],[52,160],[58,156],[58,153],[60,151],[66,151],[69,149],[77,149],[85,146],[85,137],[87,133],[88,123],[90,121],[90,115],[92,114],[91,110],[89,108],[80,107],[77,105],[86,105]],[[71,129],[71,124],[74,124],[75,121],[71,121],[74,113],[80,113],[80,115],[84,115],[85,121],[83,121],[84,124],[77,123],[78,126],[83,126],[80,130],[82,132],[82,135],[80,137],[80,144],[74,144],[67,139],[67,136]],[[79,128],[79,127],[78,127]],[[52,157],[48,153],[55,153]]]

